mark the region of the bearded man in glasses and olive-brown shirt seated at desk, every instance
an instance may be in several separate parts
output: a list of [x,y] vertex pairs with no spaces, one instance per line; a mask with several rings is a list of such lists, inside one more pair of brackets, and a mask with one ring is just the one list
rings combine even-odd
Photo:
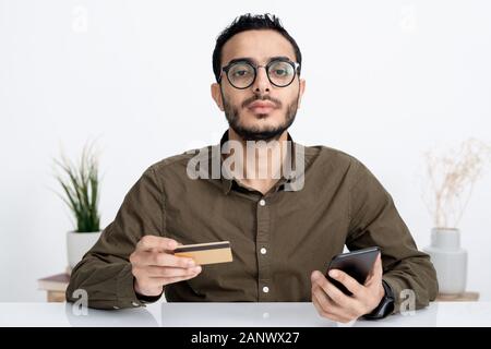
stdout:
[[[226,28],[213,53],[212,96],[228,131],[219,145],[143,173],[73,269],[68,300],[85,289],[88,305],[100,309],[140,306],[164,292],[167,301],[312,301],[337,322],[384,317],[406,300],[428,305],[438,291],[434,268],[391,195],[352,156],[288,134],[306,88],[300,68],[300,49],[277,17],[247,14]],[[218,161],[218,176],[194,176],[211,173],[207,161],[214,169]],[[172,253],[225,240],[231,263],[200,266]],[[363,285],[332,275],[351,296],[324,275],[345,244],[381,248]]]

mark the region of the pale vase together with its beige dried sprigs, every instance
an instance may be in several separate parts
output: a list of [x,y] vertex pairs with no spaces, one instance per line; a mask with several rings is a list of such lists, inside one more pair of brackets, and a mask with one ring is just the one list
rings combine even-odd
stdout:
[[490,159],[491,147],[469,139],[458,152],[426,154],[429,185],[423,201],[433,220],[430,254],[442,294],[459,294],[466,289],[467,251],[460,246],[458,224],[474,186]]

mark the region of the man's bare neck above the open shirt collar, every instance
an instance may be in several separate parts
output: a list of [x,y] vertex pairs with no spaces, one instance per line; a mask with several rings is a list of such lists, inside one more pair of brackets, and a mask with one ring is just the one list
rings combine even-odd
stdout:
[[277,140],[263,142],[247,142],[232,129],[228,130],[229,141],[237,141],[242,146],[242,161],[244,176],[239,181],[259,192],[267,193],[279,180],[283,163],[286,158],[286,141],[288,133],[285,131]]

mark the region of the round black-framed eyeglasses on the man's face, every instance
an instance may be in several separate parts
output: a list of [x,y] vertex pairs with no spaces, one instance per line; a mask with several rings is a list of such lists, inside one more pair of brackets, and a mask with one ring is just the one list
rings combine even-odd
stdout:
[[[260,68],[266,70],[267,79],[273,85],[286,87],[294,82],[299,67],[299,63],[286,59],[275,59],[266,65],[254,65],[249,60],[239,60],[230,62],[221,70],[227,74],[230,85],[244,89],[252,86]],[[221,75],[219,82],[221,82]]]

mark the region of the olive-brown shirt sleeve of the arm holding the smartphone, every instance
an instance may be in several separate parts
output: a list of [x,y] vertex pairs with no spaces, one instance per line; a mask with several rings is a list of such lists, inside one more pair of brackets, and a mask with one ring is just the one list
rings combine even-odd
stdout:
[[418,251],[392,196],[373,173],[358,160],[354,172],[347,248],[381,248],[383,280],[394,293],[394,312],[427,306],[438,293],[430,256]]

